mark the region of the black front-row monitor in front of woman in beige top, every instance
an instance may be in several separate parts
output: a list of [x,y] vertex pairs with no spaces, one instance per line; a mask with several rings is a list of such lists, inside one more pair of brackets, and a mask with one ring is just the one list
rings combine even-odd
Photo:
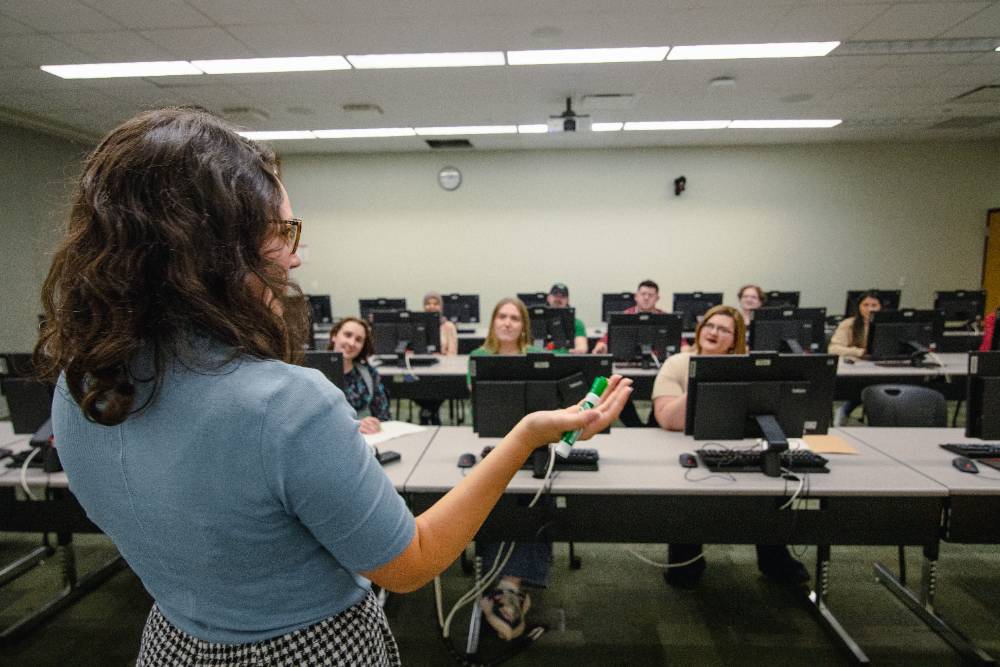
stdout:
[[691,357],[684,433],[695,440],[763,438],[779,474],[788,438],[830,428],[837,357],[753,352]]

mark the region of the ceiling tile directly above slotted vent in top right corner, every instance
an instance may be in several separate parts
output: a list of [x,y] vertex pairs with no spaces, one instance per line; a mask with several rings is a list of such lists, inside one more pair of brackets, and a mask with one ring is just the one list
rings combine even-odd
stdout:
[[927,39],[939,37],[989,6],[990,3],[987,2],[899,3],[851,35],[851,39]]

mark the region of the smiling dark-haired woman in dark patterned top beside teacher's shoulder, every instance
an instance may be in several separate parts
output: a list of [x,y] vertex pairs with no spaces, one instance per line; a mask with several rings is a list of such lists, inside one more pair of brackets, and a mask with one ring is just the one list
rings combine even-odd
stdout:
[[358,413],[361,432],[368,435],[382,430],[379,422],[392,419],[389,395],[378,371],[368,365],[375,351],[372,327],[358,317],[345,317],[330,330],[328,350],[344,355],[344,394]]

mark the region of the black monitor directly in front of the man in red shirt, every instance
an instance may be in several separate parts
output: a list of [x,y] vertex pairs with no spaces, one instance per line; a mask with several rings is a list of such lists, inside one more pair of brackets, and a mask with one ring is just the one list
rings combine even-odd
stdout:
[[608,320],[608,352],[615,361],[641,361],[644,366],[681,349],[681,316],[677,313],[612,313]]

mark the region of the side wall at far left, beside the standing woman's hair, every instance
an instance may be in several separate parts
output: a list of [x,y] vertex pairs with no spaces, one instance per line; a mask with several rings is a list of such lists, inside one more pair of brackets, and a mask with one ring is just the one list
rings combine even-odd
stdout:
[[48,252],[85,149],[0,124],[0,352],[35,344]]

